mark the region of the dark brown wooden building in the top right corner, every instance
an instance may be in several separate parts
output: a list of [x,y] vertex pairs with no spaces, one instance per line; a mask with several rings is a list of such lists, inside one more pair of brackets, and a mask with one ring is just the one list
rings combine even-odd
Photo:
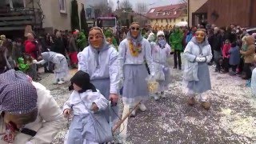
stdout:
[[[190,0],[193,1],[193,0]],[[216,26],[256,26],[256,0],[208,0],[192,13],[192,25],[208,22]]]

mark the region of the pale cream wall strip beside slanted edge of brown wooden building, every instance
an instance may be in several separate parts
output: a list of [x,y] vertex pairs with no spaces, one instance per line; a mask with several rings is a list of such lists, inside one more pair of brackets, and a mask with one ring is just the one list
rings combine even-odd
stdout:
[[192,26],[192,13],[198,10],[207,0],[188,0],[189,26]]

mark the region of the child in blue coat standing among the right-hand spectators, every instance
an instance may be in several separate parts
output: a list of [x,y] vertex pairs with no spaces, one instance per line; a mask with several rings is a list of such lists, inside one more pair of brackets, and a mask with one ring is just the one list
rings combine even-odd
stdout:
[[231,44],[229,54],[230,54],[230,66],[232,69],[230,71],[230,75],[235,75],[238,64],[240,62],[240,52],[239,52],[239,47],[237,46],[236,42],[233,42]]

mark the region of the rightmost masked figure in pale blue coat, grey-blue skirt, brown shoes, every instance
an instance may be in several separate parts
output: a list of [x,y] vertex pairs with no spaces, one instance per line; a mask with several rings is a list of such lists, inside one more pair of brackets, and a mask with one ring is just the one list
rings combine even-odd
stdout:
[[210,73],[207,63],[212,58],[211,48],[206,38],[206,30],[198,29],[195,37],[187,44],[184,51],[186,65],[183,74],[183,86],[189,97],[187,103],[190,106],[195,104],[195,94],[200,95],[202,106],[210,109],[208,95],[203,94],[211,90]]

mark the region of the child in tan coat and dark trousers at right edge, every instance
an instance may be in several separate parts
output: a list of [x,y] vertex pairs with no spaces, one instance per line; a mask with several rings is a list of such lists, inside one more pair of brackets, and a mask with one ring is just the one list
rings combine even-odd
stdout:
[[244,68],[245,75],[242,76],[243,79],[251,78],[250,66],[254,63],[255,54],[255,38],[253,36],[246,36],[246,49],[240,50],[240,54],[244,57]]

